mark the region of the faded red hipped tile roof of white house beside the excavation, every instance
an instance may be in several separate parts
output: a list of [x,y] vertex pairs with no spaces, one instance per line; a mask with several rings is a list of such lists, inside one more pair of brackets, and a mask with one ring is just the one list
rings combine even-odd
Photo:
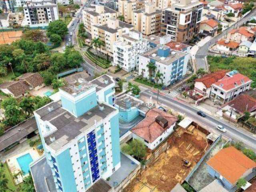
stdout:
[[153,108],[146,113],[146,118],[144,118],[144,120],[131,129],[131,132],[150,143],[154,142],[154,140],[161,136],[166,130],[166,128],[163,128],[155,121],[157,116],[161,116],[168,121],[167,128],[170,128],[170,126],[172,126],[178,120],[178,118],[172,116],[171,114],[168,114],[160,109]]

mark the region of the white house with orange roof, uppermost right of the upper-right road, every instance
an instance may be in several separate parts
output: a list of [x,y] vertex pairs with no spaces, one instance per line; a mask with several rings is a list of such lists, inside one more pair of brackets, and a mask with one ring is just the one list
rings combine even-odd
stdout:
[[238,29],[232,29],[228,33],[227,39],[234,42],[253,41],[255,32],[246,27],[240,27]]

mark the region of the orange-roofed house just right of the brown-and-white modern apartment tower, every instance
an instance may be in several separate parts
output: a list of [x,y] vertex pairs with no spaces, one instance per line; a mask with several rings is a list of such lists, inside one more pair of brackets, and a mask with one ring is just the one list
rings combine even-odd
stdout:
[[218,22],[214,19],[203,20],[200,23],[200,32],[214,37],[217,34]]

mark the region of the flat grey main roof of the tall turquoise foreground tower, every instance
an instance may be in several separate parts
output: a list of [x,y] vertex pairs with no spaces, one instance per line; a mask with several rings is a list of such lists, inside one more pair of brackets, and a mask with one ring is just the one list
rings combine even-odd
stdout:
[[116,110],[116,108],[106,104],[98,104],[82,116],[76,118],[63,109],[61,101],[58,101],[36,110],[36,113],[42,120],[48,121],[56,127],[57,130],[46,136],[45,141],[48,146],[58,150],[76,136],[92,127],[95,124],[95,120],[98,122]]

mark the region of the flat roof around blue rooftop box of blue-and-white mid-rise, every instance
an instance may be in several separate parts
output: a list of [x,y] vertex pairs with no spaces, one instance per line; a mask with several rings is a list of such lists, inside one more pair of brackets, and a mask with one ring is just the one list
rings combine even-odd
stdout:
[[160,62],[162,64],[165,65],[170,65],[172,64],[172,62],[186,56],[187,54],[181,51],[170,51],[170,54],[167,57],[161,57],[157,55],[158,49],[161,47],[165,47],[165,46],[157,46],[156,48],[153,48],[147,52],[145,52],[144,54],[142,54],[142,56],[146,57],[146,58],[150,58],[153,59],[157,62]]

